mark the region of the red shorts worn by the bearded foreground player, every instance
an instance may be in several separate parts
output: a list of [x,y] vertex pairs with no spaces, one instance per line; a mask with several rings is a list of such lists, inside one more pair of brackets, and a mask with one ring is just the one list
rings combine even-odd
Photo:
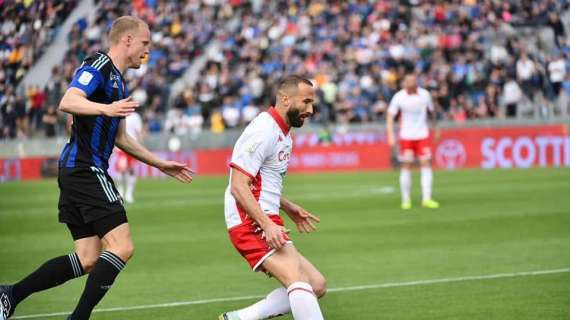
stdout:
[[[277,214],[268,215],[279,226],[283,226],[283,219]],[[248,219],[228,230],[230,240],[242,257],[247,260],[253,271],[265,271],[261,265],[265,259],[271,256],[275,249],[271,249],[265,239],[262,239],[262,231],[255,223]],[[285,240],[290,242],[289,236],[284,234]]]

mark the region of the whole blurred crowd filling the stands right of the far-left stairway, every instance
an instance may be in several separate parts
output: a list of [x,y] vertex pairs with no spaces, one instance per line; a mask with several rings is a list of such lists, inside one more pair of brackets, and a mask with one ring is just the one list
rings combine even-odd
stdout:
[[[313,121],[320,123],[382,121],[411,71],[432,93],[441,119],[566,115],[570,42],[560,16],[567,9],[558,0],[101,0],[92,23],[75,25],[70,50],[45,90],[13,98],[6,90],[0,135],[29,134],[6,110],[26,110],[32,127],[51,128],[61,119],[55,108],[75,68],[104,48],[110,21],[127,13],[151,26],[148,64],[127,74],[151,132],[241,126],[272,103],[271,88],[289,73],[318,84]],[[548,29],[552,41],[538,36]],[[211,41],[221,49],[198,81],[169,102],[170,84]]]

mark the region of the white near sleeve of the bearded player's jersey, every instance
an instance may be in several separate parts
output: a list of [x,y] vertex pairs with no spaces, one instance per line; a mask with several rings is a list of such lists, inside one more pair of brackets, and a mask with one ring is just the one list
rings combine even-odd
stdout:
[[230,167],[255,179],[274,145],[272,140],[272,135],[267,133],[244,132],[234,147]]

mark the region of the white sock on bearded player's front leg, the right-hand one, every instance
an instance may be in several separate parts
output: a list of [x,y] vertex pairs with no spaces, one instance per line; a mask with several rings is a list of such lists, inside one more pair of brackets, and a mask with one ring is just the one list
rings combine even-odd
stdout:
[[306,282],[295,282],[287,288],[291,312],[295,320],[323,320],[313,288]]

